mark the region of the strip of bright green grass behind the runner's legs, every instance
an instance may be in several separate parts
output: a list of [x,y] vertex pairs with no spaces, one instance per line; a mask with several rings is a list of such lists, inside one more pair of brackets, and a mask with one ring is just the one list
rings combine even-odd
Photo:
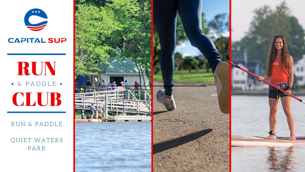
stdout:
[[[153,74],[153,80],[162,80],[161,73]],[[174,81],[177,82],[215,82],[212,69],[206,72],[206,69],[199,69],[196,73],[195,69],[192,69],[192,73],[188,70],[178,70],[174,72]]]

